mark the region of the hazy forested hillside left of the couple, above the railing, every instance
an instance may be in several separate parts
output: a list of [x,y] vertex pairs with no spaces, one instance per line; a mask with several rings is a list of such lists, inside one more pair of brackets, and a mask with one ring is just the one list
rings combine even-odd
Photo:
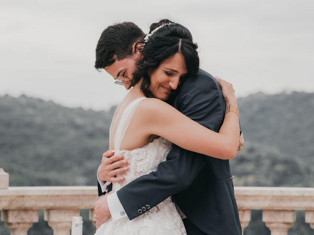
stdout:
[[95,185],[112,115],[25,95],[0,97],[0,167],[10,185]]

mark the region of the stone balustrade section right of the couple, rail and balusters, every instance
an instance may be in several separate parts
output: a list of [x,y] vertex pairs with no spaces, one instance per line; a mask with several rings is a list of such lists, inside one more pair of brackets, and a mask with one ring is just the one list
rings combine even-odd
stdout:
[[314,229],[314,188],[235,187],[242,231],[251,210],[262,210],[262,221],[271,235],[287,235],[295,211],[305,211],[305,222]]

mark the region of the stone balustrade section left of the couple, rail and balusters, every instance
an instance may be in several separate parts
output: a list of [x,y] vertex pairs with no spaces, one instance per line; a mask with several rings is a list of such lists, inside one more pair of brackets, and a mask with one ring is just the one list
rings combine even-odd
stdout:
[[97,199],[97,187],[8,187],[0,189],[1,220],[11,235],[27,235],[38,222],[38,210],[44,209],[53,234],[70,235],[72,216],[78,216],[80,209],[90,209],[94,220]]

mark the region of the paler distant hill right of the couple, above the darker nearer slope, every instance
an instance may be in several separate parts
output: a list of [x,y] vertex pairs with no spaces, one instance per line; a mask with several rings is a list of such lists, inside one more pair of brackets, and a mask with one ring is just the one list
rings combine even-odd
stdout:
[[282,154],[314,164],[314,94],[252,94],[239,98],[247,141],[277,147]]

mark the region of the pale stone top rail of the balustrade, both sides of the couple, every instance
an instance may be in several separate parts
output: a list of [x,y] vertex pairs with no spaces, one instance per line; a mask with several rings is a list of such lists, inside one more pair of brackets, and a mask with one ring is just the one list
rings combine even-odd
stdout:
[[[314,188],[235,187],[239,210],[314,211]],[[0,189],[0,210],[93,209],[97,187]]]

